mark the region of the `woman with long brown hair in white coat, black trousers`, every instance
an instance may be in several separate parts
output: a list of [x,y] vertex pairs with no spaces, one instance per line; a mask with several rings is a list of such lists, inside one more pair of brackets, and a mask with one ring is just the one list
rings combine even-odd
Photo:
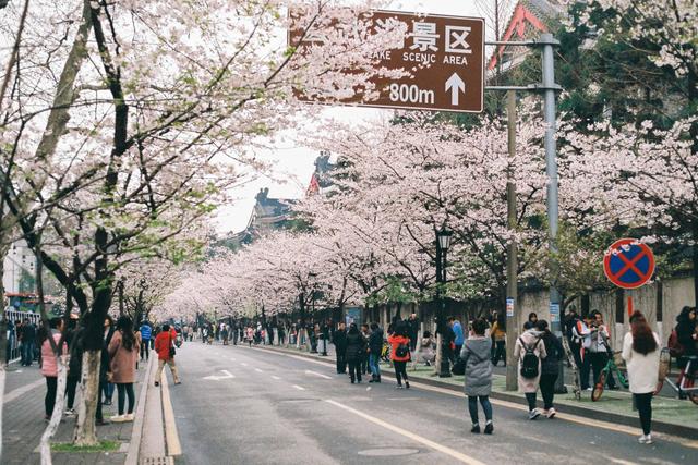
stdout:
[[630,332],[623,339],[623,359],[628,368],[628,381],[640,414],[641,444],[652,443],[652,396],[659,381],[659,335],[647,323],[640,311],[630,316]]

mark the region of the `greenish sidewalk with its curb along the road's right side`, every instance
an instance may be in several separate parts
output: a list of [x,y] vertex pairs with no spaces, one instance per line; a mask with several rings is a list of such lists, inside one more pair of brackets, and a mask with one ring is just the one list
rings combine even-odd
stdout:
[[[328,356],[326,357],[310,354],[304,350],[299,351],[296,346],[256,345],[255,347],[292,353],[310,358],[320,358],[328,365],[334,365],[336,360],[334,346],[332,345],[328,347]],[[382,363],[381,370],[394,375],[393,368],[388,364]],[[434,376],[434,367],[423,365],[418,366],[417,370],[412,370],[411,366],[408,365],[407,374],[422,383],[462,392],[462,376],[438,378]],[[605,390],[603,396],[598,402],[592,402],[591,392],[582,392],[581,401],[577,401],[574,394],[571,394],[571,390],[569,391],[570,393],[568,394],[555,395],[555,404],[559,412],[633,427],[638,426],[638,416],[637,413],[633,411],[633,401],[629,392]],[[505,390],[505,376],[503,375],[494,375],[491,396],[503,401],[526,404],[524,394]],[[540,395],[539,403],[541,403]],[[658,432],[695,439],[698,437],[698,406],[690,401],[657,396],[652,401],[652,429]]]

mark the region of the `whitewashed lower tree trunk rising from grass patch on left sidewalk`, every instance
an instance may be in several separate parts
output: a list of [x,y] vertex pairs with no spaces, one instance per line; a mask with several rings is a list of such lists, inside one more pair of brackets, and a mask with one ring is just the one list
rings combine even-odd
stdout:
[[75,445],[97,445],[95,415],[99,395],[99,366],[101,351],[85,351],[83,353],[83,372],[81,387],[83,399],[77,404],[77,421],[75,423]]

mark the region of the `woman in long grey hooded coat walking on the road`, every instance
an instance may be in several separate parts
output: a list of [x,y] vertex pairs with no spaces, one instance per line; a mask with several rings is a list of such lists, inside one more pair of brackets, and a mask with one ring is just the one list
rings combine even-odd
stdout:
[[492,392],[492,363],[490,360],[490,348],[492,340],[485,336],[488,322],[478,318],[472,322],[472,336],[465,341],[459,352],[460,358],[466,366],[464,390],[468,396],[468,411],[472,428],[470,432],[480,432],[480,419],[478,418],[478,401],[484,412],[485,425],[484,433],[492,435],[494,425],[492,424],[492,404],[490,393]]

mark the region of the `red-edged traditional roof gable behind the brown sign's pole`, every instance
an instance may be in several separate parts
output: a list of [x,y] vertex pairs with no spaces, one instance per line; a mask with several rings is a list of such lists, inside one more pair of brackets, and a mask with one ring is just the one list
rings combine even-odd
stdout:
[[[520,0],[507,23],[500,40],[527,40],[547,32],[546,23],[564,15],[566,9],[557,0]],[[502,60],[502,69],[516,66],[530,51],[527,47],[498,46],[488,62],[488,70],[494,70]]]

